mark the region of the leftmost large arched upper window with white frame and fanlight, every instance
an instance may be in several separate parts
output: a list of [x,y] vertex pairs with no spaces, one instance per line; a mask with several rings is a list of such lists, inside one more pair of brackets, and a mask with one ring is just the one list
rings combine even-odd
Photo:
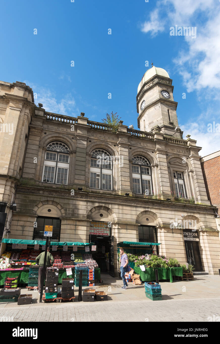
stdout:
[[69,148],[55,141],[46,147],[42,182],[67,184],[69,174]]

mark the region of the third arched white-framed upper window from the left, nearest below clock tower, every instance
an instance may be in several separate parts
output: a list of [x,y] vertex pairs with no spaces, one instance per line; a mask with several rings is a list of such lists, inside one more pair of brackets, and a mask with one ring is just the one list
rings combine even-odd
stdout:
[[136,155],[132,159],[133,192],[152,195],[151,173],[149,161]]

